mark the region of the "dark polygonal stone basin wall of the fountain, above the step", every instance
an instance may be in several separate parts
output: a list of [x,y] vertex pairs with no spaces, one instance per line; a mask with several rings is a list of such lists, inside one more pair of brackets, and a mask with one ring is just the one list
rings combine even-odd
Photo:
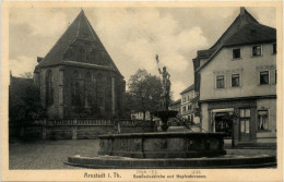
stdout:
[[98,155],[199,158],[225,155],[225,133],[129,133],[99,136]]

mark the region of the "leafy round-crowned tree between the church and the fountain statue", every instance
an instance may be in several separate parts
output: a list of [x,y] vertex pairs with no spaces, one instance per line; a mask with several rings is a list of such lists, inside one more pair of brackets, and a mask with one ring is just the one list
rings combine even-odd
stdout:
[[145,120],[146,111],[151,112],[157,109],[162,94],[161,80],[145,70],[138,70],[135,74],[130,76],[128,88],[126,94],[127,110],[143,112],[143,120]]

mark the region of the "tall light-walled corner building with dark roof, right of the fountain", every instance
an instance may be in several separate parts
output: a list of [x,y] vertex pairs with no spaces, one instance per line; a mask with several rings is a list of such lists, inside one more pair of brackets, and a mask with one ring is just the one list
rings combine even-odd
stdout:
[[276,143],[275,28],[240,8],[216,44],[198,51],[193,64],[204,130],[233,133],[234,125],[236,144]]

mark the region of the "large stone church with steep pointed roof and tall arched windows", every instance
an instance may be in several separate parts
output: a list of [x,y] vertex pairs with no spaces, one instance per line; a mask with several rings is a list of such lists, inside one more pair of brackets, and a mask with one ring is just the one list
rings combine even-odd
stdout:
[[122,113],[126,82],[83,10],[37,62],[34,82],[49,119]]

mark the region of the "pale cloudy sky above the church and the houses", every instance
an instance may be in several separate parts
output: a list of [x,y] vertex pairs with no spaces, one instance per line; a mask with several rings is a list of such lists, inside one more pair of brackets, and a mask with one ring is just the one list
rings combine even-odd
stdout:
[[[246,8],[261,24],[276,27],[274,8]],[[167,66],[174,99],[193,84],[197,51],[209,49],[239,14],[239,8],[84,8],[128,82],[138,69],[158,75]],[[12,74],[33,72],[78,16],[81,8],[11,8],[9,64]],[[159,56],[159,64],[155,61]]]

